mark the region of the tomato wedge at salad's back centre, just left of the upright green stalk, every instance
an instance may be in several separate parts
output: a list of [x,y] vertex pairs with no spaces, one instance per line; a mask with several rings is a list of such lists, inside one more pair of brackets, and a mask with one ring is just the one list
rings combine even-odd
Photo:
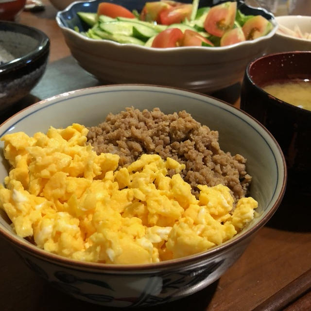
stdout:
[[181,23],[186,18],[190,19],[192,4],[179,4],[159,13],[159,20],[162,25]]

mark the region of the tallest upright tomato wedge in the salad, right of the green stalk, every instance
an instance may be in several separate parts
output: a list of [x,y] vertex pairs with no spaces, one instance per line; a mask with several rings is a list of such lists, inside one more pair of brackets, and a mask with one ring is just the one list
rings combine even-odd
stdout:
[[225,32],[233,28],[237,13],[237,2],[225,2],[215,5],[208,11],[204,21],[204,28],[208,34],[222,37]]

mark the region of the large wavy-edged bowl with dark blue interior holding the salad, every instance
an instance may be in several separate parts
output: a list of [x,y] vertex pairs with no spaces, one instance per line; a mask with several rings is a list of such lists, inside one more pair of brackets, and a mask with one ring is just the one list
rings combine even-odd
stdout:
[[[104,83],[145,83],[212,92],[241,81],[247,63],[266,52],[277,28],[272,14],[249,7],[239,0],[238,8],[242,13],[263,15],[271,20],[274,28],[268,35],[227,47],[155,49],[94,40],[74,31],[74,26],[78,26],[80,31],[86,30],[76,13],[95,13],[100,1],[75,2],[58,12],[56,21],[73,57],[82,68]],[[140,11],[146,1],[113,2]],[[200,5],[211,6],[212,2],[203,0]]]

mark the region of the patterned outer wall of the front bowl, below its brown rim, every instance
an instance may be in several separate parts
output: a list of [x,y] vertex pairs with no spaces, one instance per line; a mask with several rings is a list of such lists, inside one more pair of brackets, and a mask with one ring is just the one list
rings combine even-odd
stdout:
[[[31,270],[47,279],[56,289],[81,300],[114,307],[147,307],[192,294],[194,288],[197,291],[198,287],[205,288],[210,284],[210,277],[214,274],[212,277],[215,278],[219,269],[224,270],[228,265],[226,259],[216,259],[185,266],[173,272],[158,272],[156,275],[153,272],[145,273],[142,275],[145,281],[136,288],[135,296],[129,296],[127,290],[131,290],[131,282],[123,293],[110,283],[111,277],[123,279],[125,275],[122,273],[111,275],[105,272],[95,274],[88,272],[85,278],[75,269],[62,267],[62,270],[59,270],[57,264],[46,267],[40,259],[22,253],[19,255]],[[135,284],[137,276],[132,275],[132,278]],[[113,280],[113,283],[118,284],[118,281]]]

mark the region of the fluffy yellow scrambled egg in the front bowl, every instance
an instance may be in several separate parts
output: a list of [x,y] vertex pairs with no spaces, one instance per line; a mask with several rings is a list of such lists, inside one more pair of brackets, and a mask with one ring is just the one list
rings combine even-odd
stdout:
[[223,185],[199,186],[196,199],[172,158],[142,155],[116,171],[119,155],[97,155],[87,132],[74,123],[1,138],[12,169],[0,208],[38,247],[78,260],[151,263],[206,251],[254,218],[257,202],[242,198],[234,207]]

